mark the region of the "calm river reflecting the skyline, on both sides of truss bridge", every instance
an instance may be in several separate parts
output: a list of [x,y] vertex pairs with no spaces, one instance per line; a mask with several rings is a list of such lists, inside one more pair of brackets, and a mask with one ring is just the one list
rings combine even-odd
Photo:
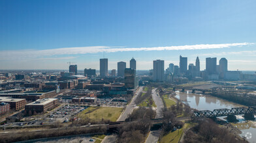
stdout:
[[[232,107],[244,107],[243,105],[216,98],[214,96],[192,94],[190,92],[177,91],[175,97],[180,99],[182,102],[187,103],[191,108],[197,110],[231,109]],[[246,136],[249,142],[255,143],[256,122],[246,122],[242,115],[238,115],[236,118],[239,120],[239,123],[234,123],[233,125],[242,131],[240,136]]]

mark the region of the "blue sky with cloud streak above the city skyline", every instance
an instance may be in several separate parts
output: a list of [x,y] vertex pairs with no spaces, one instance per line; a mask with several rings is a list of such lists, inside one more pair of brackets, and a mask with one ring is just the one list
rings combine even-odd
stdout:
[[229,70],[256,70],[255,5],[0,0],[0,69],[67,69],[71,61],[80,70],[99,70],[103,57],[116,69],[117,62],[134,57],[138,70],[148,70],[155,59],[165,60],[167,68],[180,55],[195,64],[198,55],[201,70],[206,57],[226,57]]

